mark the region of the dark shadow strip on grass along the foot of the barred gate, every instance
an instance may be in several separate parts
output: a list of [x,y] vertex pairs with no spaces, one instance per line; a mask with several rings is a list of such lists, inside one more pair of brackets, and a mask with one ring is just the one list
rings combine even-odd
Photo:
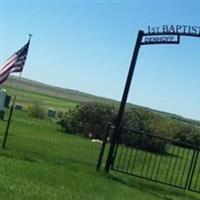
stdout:
[[[179,189],[179,188],[173,188],[168,185],[164,184],[159,184],[159,183],[153,183],[148,180],[141,180],[138,178],[130,178],[130,177],[125,177],[125,175],[118,175],[118,174],[104,174],[108,178],[123,184],[125,186],[137,189],[143,193],[151,194],[153,196],[166,199],[166,200],[175,200],[178,198],[183,198],[187,200],[199,200],[199,197],[193,196],[189,191]],[[196,195],[198,195],[196,193]]]

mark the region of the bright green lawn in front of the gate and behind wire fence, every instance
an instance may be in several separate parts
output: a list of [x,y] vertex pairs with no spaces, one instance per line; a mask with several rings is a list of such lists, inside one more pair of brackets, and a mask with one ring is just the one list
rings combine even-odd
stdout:
[[[5,127],[0,122],[0,142]],[[99,148],[86,138],[60,132],[55,121],[15,111],[6,150],[0,151],[0,199],[200,199],[196,193],[114,171],[96,172]]]

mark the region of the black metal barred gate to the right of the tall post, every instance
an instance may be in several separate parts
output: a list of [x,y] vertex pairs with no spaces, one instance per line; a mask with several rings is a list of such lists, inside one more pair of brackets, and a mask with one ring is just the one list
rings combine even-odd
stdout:
[[[109,131],[113,131],[111,126]],[[128,140],[131,138],[134,141]],[[189,144],[123,128],[112,170],[200,192],[199,149]]]

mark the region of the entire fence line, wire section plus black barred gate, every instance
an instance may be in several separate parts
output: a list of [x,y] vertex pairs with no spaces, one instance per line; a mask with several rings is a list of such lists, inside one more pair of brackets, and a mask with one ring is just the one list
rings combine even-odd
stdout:
[[[8,108],[5,120],[0,121],[0,142],[3,141],[9,118]],[[39,158],[51,156],[59,162],[75,161],[95,165],[105,164],[111,136],[115,128],[107,127],[104,142],[92,142],[80,134],[61,131],[56,117],[33,117],[28,109],[14,109],[8,132],[6,148]],[[130,137],[131,135],[131,137]],[[101,147],[101,151],[100,151]],[[146,134],[136,130],[121,129],[121,135],[114,149],[112,170],[200,192],[199,148]]]

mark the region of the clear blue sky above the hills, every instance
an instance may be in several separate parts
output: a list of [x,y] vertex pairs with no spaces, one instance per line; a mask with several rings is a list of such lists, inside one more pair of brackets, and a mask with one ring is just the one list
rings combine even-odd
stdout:
[[[139,29],[200,25],[198,1],[0,0],[0,63],[34,36],[23,77],[120,100]],[[200,38],[142,46],[128,101],[200,119]]]

